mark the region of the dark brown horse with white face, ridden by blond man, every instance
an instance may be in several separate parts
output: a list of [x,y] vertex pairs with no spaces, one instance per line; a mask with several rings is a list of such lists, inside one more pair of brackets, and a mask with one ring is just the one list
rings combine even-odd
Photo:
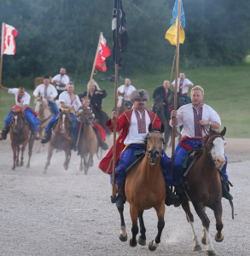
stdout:
[[[186,175],[188,190],[186,195],[189,196],[195,207],[195,212],[201,218],[203,225],[203,235],[201,242],[206,245],[206,253],[208,255],[215,255],[212,246],[212,239],[209,234],[209,219],[206,216],[206,207],[213,210],[216,218],[215,241],[223,241],[224,236],[221,232],[223,229],[222,223],[222,186],[221,177],[218,170],[224,166],[224,135],[226,128],[220,133],[210,129],[209,134],[204,139],[204,148],[202,149],[201,157],[195,161],[195,164],[190,168]],[[184,196],[182,201],[183,210],[186,212],[187,219],[191,225],[193,232],[194,251],[201,250],[199,241],[195,234],[194,217],[190,212],[189,199]]]

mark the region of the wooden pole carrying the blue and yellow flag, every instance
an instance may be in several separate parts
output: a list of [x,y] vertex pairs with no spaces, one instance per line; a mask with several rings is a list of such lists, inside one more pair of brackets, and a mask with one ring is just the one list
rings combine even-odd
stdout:
[[[177,17],[177,48],[176,48],[176,79],[175,79],[175,96],[174,96],[174,110],[177,110],[177,85],[178,85],[178,69],[179,69],[179,50],[180,50],[180,20],[181,20],[181,0],[178,0],[178,17]],[[174,150],[175,150],[175,134],[176,134],[176,118],[173,119],[172,127],[172,180],[173,180],[173,166],[174,166]]]

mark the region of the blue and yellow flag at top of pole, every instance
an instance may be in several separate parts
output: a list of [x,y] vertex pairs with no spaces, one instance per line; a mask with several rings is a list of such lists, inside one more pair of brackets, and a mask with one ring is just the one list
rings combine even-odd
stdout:
[[[178,0],[176,0],[174,8],[172,10],[172,20],[170,24],[172,25],[169,30],[166,32],[165,38],[172,45],[177,45],[177,17],[178,17]],[[185,32],[183,28],[185,27],[185,15],[183,9],[183,1],[181,0],[181,24],[180,24],[180,44],[184,43],[185,40]]]

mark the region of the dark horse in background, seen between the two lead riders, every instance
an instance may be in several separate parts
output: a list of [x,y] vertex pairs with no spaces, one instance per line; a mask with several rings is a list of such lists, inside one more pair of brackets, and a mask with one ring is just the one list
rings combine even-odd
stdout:
[[[164,150],[166,150],[166,145],[169,141],[169,138],[172,138],[172,127],[169,125],[169,120],[166,119],[166,115],[164,113],[164,102],[163,98],[160,95],[157,95],[154,97],[154,104],[153,104],[153,112],[157,114],[157,116],[160,119],[161,124],[164,125],[165,131],[164,131]],[[172,141],[171,141],[172,144]]]

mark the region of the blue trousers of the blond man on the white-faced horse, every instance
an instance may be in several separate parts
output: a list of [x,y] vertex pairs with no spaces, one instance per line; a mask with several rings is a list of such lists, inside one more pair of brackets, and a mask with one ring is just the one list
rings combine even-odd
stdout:
[[[201,141],[187,141],[185,144],[191,146],[192,148],[198,148],[198,145],[201,144]],[[181,166],[182,166],[182,160],[183,160],[183,156],[184,154],[187,154],[189,151],[186,150],[185,148],[183,148],[181,146],[181,143],[177,144],[177,148],[175,149],[175,154],[174,154],[174,178],[172,181],[172,185],[176,186],[179,183],[180,180],[180,171],[181,171]],[[227,173],[226,173],[226,168],[227,168],[227,164],[228,164],[228,160],[227,157],[225,157],[225,164],[221,170],[221,172],[224,173],[224,178],[227,181],[229,179]]]

